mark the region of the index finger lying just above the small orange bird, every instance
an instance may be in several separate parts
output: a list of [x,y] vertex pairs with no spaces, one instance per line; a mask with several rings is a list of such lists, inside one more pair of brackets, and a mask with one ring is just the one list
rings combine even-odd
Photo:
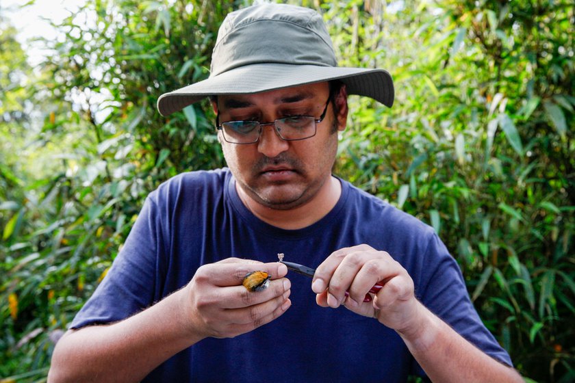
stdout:
[[288,267],[282,263],[261,263],[252,259],[229,258],[202,267],[205,267],[205,277],[218,287],[242,285],[246,275],[255,271],[266,272],[271,279],[282,278],[288,274]]

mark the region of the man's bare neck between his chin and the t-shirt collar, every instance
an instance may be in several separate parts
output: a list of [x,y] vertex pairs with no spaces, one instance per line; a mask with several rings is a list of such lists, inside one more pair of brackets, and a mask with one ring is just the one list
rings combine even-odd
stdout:
[[335,207],[342,194],[340,180],[330,176],[314,198],[294,209],[279,210],[255,202],[253,198],[242,190],[238,183],[235,183],[235,189],[238,192],[238,196],[240,196],[240,200],[253,215],[267,224],[285,230],[305,228],[318,222]]

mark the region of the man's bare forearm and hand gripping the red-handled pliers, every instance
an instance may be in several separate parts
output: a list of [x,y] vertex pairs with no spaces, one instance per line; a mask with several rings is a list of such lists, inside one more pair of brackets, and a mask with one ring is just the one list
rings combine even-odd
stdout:
[[[363,302],[376,282],[383,287],[372,302]],[[522,382],[517,371],[476,348],[425,308],[413,293],[407,271],[387,252],[367,245],[337,250],[316,269],[311,289],[320,306],[344,304],[396,330],[433,382]]]

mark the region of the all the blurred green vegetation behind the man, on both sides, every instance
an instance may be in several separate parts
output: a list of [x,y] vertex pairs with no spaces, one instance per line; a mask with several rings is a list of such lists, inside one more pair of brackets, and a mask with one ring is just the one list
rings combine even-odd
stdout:
[[[526,380],[573,382],[572,2],[292,3],[324,14],[340,65],[396,84],[392,109],[350,97],[335,172],[437,230]],[[155,102],[207,77],[245,5],[88,1],[34,69],[0,9],[0,378],[45,380],[147,193],[224,166],[207,103]]]

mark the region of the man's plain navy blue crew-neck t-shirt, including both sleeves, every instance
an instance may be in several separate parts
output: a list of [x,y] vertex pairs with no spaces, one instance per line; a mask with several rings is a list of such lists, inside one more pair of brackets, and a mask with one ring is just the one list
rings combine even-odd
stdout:
[[[483,326],[459,266],[433,229],[341,181],[335,207],[307,228],[283,230],[253,215],[227,169],[180,174],[152,192],[118,257],[71,327],[125,319],[186,285],[196,269],[235,256],[317,267],[361,243],[385,250],[415,284],[416,297],[484,352],[511,365]],[[288,272],[292,306],[233,339],[204,339],[144,382],[405,382],[424,375],[394,330],[345,307],[322,308],[311,278]]]

